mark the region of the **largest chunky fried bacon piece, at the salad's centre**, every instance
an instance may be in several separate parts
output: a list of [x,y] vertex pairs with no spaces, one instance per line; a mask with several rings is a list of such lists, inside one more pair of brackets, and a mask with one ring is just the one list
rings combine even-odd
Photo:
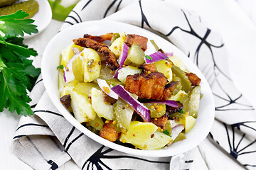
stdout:
[[166,100],[166,96],[171,95],[171,91],[165,89],[166,83],[167,78],[160,72],[134,74],[127,76],[124,89],[139,98]]

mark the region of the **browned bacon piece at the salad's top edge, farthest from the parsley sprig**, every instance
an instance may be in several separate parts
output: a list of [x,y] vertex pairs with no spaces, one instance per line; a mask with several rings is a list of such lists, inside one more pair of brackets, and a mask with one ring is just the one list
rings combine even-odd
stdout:
[[136,34],[127,34],[125,38],[125,43],[131,47],[133,43],[137,43],[140,47],[142,47],[143,51],[146,51],[148,39]]

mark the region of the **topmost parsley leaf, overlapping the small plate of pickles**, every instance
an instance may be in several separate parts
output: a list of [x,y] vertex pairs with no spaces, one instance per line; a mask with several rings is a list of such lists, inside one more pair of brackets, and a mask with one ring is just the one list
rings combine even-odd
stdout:
[[24,33],[38,33],[37,26],[31,24],[34,22],[32,19],[23,19],[28,15],[19,10],[11,15],[0,16],[0,37],[9,38],[17,35],[23,36]]

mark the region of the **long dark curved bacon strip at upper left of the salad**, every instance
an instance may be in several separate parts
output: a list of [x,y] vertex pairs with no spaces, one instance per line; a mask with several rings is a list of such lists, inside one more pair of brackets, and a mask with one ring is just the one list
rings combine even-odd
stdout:
[[92,40],[90,38],[78,38],[73,40],[73,42],[76,45],[80,45],[82,47],[92,48],[93,50],[96,50],[97,52],[102,53],[102,55],[105,57],[107,64],[110,66],[110,69],[113,71],[118,69],[119,64],[117,62],[117,57],[115,57],[114,52],[112,52],[107,45],[103,45],[100,42],[97,42],[95,40]]

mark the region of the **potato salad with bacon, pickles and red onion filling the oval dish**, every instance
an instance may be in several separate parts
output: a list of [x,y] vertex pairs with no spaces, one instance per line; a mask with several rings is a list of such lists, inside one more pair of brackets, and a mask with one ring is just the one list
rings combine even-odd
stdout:
[[85,34],[61,52],[60,102],[100,137],[134,149],[186,139],[196,124],[201,79],[142,35]]

